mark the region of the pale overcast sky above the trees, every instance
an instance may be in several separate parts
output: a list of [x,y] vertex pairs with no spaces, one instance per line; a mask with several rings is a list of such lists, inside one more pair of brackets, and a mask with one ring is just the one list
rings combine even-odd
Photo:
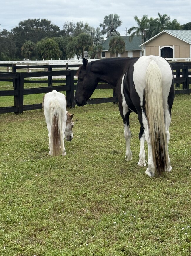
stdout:
[[157,17],[167,14],[171,21],[180,24],[191,22],[191,0],[1,0],[0,29],[11,30],[26,19],[49,19],[61,29],[68,21],[83,21],[92,27],[99,27],[108,14],[118,14],[122,25],[121,35],[137,25],[134,16]]

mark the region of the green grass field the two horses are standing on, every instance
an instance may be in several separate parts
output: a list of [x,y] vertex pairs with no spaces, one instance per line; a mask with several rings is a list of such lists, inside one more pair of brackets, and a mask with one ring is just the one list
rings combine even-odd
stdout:
[[[41,100],[30,96],[31,102]],[[154,178],[137,165],[135,114],[130,115],[133,157],[125,161],[115,104],[69,110],[74,138],[65,142],[64,157],[48,155],[43,110],[0,115],[0,255],[190,256],[190,109],[190,95],[175,97],[173,169]]]

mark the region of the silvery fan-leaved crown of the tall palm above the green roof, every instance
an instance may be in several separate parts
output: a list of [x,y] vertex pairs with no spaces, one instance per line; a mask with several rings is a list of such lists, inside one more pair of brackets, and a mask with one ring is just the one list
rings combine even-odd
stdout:
[[120,35],[117,28],[121,26],[122,21],[119,18],[119,15],[116,13],[109,14],[104,17],[103,23],[100,23],[100,27],[102,27],[101,33],[103,35],[107,34],[106,38]]

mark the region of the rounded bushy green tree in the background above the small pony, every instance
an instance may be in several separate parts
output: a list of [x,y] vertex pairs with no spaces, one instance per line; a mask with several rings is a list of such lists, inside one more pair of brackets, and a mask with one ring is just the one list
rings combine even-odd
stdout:
[[61,51],[58,43],[53,38],[43,38],[36,44],[36,52],[40,59],[50,60],[59,59]]

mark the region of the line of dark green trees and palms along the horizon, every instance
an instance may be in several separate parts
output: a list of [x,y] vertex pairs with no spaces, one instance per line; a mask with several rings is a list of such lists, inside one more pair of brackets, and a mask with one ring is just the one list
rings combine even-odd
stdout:
[[[142,42],[150,39],[163,29],[191,29],[191,22],[180,25],[176,19],[170,20],[167,14],[158,13],[157,18],[141,19],[134,17],[137,25],[127,32],[132,40],[135,35],[142,35]],[[66,59],[84,55],[88,51],[90,58],[99,58],[103,50],[104,35],[110,40],[109,51],[123,53],[125,42],[120,37],[118,27],[122,21],[118,14],[104,17],[103,23],[94,28],[83,21],[77,23],[65,22],[62,29],[48,19],[27,19],[20,21],[11,31],[0,27],[0,61],[34,59]]]

